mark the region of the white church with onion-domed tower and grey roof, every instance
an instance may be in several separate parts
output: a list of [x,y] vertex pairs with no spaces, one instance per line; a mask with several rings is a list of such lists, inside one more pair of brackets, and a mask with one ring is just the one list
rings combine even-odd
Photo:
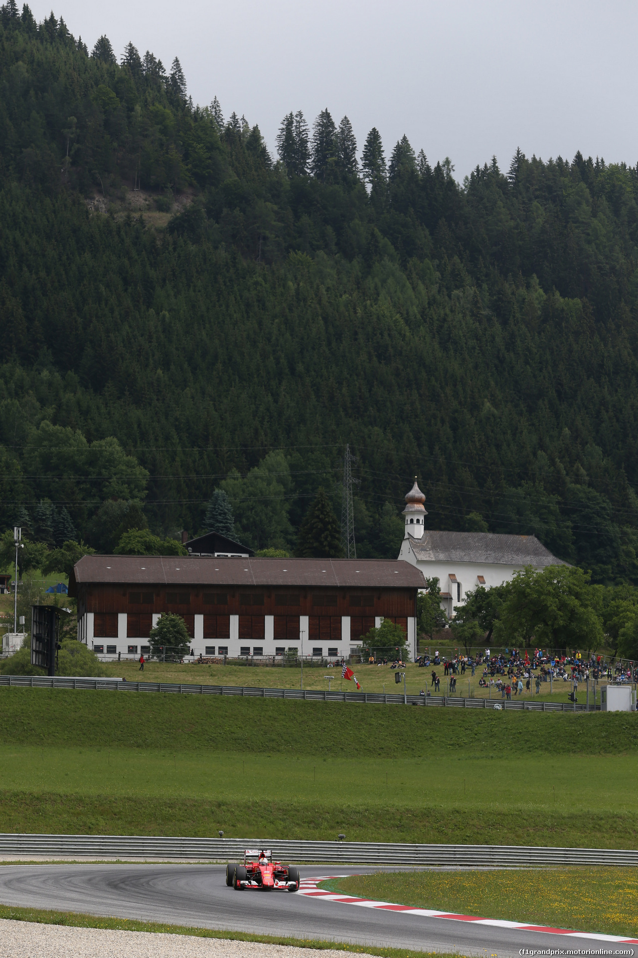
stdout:
[[536,536],[500,536],[493,533],[446,533],[425,527],[426,497],[416,478],[406,496],[406,534],[399,559],[415,565],[441,589],[441,606],[448,618],[454,605],[465,602],[466,592],[478,585],[490,588],[509,582],[514,573],[531,565],[565,565],[545,549]]

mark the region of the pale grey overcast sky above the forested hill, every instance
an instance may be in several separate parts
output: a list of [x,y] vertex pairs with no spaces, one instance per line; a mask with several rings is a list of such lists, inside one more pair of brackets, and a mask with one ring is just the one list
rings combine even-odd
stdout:
[[[41,20],[51,0],[34,0]],[[281,118],[328,107],[360,149],[381,131],[385,154],[407,133],[458,179],[517,147],[571,159],[638,161],[638,4],[633,0],[56,0],[89,50],[132,40],[166,69],[179,57],[194,103],[217,96],[258,124],[275,152]]]

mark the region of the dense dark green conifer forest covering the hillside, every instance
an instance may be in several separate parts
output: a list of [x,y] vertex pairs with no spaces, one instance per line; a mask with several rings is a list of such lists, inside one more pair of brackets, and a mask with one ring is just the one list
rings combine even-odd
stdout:
[[397,554],[417,473],[431,528],[638,582],[638,167],[458,183],[297,107],[269,150],[177,58],[2,7],[0,532],[194,534],[221,489],[293,550],[349,443],[358,555]]

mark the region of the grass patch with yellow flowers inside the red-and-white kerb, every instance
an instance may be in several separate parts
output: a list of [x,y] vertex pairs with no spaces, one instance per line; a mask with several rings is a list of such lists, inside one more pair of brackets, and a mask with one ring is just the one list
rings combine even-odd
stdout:
[[480,918],[638,936],[638,876],[631,868],[395,872],[321,887]]

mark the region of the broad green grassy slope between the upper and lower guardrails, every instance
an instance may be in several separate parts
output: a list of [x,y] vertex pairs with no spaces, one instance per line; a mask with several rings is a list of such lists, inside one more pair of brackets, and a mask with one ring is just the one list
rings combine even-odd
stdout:
[[0,831],[635,847],[638,723],[0,689]]

